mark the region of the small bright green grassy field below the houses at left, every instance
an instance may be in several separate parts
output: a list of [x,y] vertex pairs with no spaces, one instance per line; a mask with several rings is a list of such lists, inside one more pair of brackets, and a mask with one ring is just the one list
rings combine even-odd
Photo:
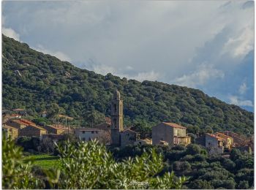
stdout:
[[34,161],[33,165],[39,166],[42,169],[59,167],[58,156],[51,156],[49,154],[39,154],[39,155],[26,156],[25,159],[33,160]]

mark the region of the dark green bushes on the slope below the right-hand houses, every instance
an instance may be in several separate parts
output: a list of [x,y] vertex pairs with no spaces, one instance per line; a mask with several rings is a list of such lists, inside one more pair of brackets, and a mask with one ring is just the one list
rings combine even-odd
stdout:
[[[113,156],[126,159],[129,156],[142,155],[150,151],[151,145],[134,145],[125,148],[112,148]],[[159,146],[165,161],[164,172],[174,171],[178,176],[186,176],[184,184],[189,189],[253,189],[254,159],[252,155],[233,149],[230,158],[220,155],[208,155],[199,145],[191,144],[187,148]]]

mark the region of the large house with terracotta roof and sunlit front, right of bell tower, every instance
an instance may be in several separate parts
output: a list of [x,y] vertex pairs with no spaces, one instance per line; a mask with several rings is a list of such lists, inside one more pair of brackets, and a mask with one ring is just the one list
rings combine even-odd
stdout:
[[187,136],[187,128],[176,123],[162,122],[152,127],[152,144],[159,145],[160,141],[168,145],[189,145],[191,139]]

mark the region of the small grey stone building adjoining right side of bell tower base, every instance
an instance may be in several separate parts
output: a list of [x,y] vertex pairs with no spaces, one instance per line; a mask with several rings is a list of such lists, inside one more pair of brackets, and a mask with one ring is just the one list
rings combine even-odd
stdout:
[[120,132],[120,145],[122,147],[126,145],[133,145],[138,140],[138,133],[131,129],[124,129]]

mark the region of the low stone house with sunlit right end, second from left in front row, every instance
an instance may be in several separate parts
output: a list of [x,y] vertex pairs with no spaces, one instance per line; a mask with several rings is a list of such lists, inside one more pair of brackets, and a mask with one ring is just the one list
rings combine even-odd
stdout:
[[19,130],[19,136],[41,137],[42,134],[47,134],[46,129],[43,129],[42,127],[36,125],[29,125]]

